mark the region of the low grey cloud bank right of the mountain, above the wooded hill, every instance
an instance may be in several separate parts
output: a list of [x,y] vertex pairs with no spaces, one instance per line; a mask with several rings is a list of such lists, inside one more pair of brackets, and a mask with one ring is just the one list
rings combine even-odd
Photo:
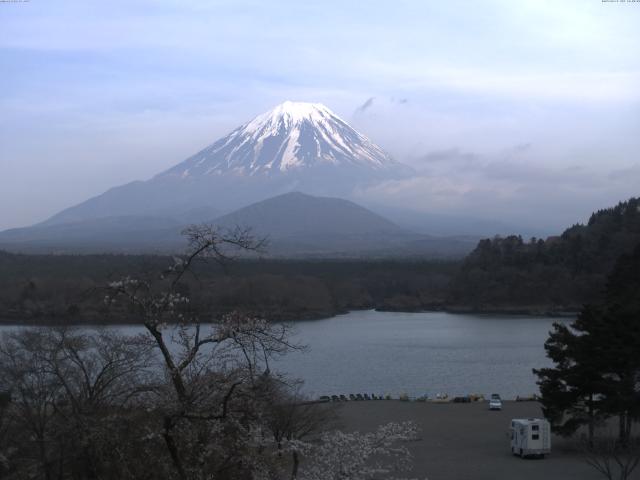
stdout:
[[[597,209],[640,194],[640,165],[605,172],[584,166],[547,167],[535,150],[481,155],[450,149],[423,157],[413,178],[393,180],[357,193],[358,200],[450,215],[497,219],[559,233]],[[514,152],[524,150],[518,157]]]

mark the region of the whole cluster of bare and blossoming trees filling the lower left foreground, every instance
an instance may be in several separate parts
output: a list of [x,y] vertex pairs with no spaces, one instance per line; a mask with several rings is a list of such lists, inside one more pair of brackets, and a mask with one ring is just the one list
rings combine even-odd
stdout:
[[333,412],[306,402],[297,384],[272,371],[275,357],[301,348],[287,325],[240,313],[213,318],[193,301],[183,280],[196,275],[196,264],[224,265],[262,242],[246,230],[185,233],[189,250],[169,269],[106,288],[105,304],[137,318],[143,334],[5,334],[0,441],[8,441],[0,444],[0,472],[47,480],[315,480],[406,466],[412,425],[328,431]]

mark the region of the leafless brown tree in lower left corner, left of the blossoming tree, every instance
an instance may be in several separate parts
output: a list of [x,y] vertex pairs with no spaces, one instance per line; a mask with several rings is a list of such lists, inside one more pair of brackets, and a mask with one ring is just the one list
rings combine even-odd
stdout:
[[111,425],[126,423],[121,412],[145,390],[151,351],[139,340],[65,328],[5,334],[0,383],[9,391],[7,470],[46,479],[96,474],[113,453],[96,440],[109,438]]

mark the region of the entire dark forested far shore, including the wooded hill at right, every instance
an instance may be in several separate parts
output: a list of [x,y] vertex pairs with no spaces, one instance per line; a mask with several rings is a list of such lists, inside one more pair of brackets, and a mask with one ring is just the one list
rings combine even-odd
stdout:
[[[212,315],[241,310],[272,320],[322,318],[353,309],[577,312],[604,291],[620,255],[640,243],[640,200],[594,213],[562,235],[479,242],[463,261],[198,261],[184,288]],[[99,287],[157,272],[166,256],[19,255],[0,252],[0,320],[135,321],[107,315]]]

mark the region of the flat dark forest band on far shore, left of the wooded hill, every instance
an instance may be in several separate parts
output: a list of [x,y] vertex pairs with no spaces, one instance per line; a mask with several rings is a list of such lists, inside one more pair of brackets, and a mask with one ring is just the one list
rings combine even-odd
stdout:
[[[167,262],[151,255],[0,252],[0,319],[122,322],[123,316],[104,307],[100,287],[122,276],[161,271]],[[199,261],[184,283],[213,313],[242,310],[288,320],[363,308],[439,308],[458,268],[459,262],[434,260],[238,260],[227,266]]]

